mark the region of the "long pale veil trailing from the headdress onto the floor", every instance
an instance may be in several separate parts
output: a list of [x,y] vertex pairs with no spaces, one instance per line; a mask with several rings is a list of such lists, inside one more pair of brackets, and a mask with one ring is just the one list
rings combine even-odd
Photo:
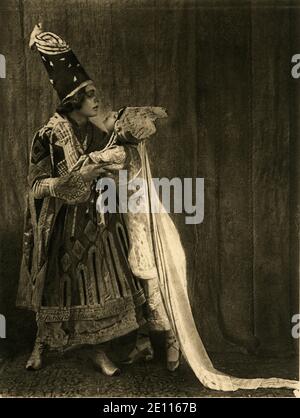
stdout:
[[172,329],[182,354],[200,382],[214,390],[236,391],[258,388],[299,388],[299,382],[281,378],[240,379],[216,370],[198,334],[187,291],[186,258],[178,231],[164,212],[153,213],[153,204],[162,207],[153,186],[145,143],[139,145],[142,176],[147,184],[149,227],[157,265],[159,287]]

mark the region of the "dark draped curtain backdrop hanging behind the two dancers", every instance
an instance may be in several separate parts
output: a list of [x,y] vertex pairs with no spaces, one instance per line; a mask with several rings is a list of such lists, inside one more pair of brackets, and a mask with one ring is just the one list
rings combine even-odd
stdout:
[[[149,143],[155,177],[203,177],[199,225],[172,215],[191,304],[212,352],[290,354],[298,311],[300,7],[290,1],[1,0],[0,313],[7,349],[32,343],[34,316],[14,306],[33,133],[55,110],[34,25],[60,34],[104,104],[160,105]],[[288,7],[291,6],[291,7]],[[298,32],[298,33],[297,33]],[[299,171],[298,171],[299,177]]]

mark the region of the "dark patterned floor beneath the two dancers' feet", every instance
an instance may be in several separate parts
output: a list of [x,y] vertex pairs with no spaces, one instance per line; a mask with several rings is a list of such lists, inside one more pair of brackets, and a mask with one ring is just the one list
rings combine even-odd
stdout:
[[[168,372],[162,359],[122,368],[122,374],[108,378],[76,355],[48,354],[38,372],[24,369],[28,354],[18,355],[0,364],[0,394],[3,397],[293,397],[290,390],[238,391],[220,393],[204,388],[183,363],[175,373]],[[227,355],[214,359],[223,371],[240,377],[263,374],[297,378],[296,359],[255,359]],[[226,364],[226,367],[224,367]]]

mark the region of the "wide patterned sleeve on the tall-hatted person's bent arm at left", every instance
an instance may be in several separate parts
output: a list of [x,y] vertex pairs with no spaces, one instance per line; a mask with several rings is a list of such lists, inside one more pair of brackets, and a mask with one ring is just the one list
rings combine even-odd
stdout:
[[51,131],[40,130],[34,136],[28,183],[36,199],[56,197],[67,204],[77,204],[88,200],[90,183],[86,183],[80,172],[72,172],[60,177],[53,175],[53,153],[49,141]]

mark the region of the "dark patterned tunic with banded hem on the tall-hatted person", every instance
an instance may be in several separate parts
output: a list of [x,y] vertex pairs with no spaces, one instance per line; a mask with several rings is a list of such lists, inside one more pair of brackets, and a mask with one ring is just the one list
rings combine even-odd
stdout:
[[[107,139],[93,124],[80,128],[71,123],[84,153],[104,147]],[[48,124],[36,134],[29,170],[38,218],[35,229],[45,231],[47,236],[45,260],[37,256],[39,240],[35,238],[33,248],[25,226],[22,265],[29,274],[30,270],[38,270],[34,268],[36,262],[45,269],[42,285],[39,284],[40,303],[34,309],[38,339],[50,348],[65,349],[102,343],[137,329],[144,321],[139,307],[145,298],[128,265],[128,236],[121,214],[107,214],[104,221],[99,217],[95,209],[95,182],[86,184],[79,172],[68,173],[65,151],[53,129]],[[49,158],[54,168],[51,177],[45,169]],[[41,210],[47,199],[54,199],[54,205],[59,201],[55,217],[49,209]],[[50,215],[55,218],[52,223]],[[42,217],[46,227],[39,226]],[[32,235],[39,236],[34,228]],[[24,277],[21,274],[18,305],[28,307],[29,303],[24,302],[28,277]],[[30,281],[34,287],[33,274]]]

